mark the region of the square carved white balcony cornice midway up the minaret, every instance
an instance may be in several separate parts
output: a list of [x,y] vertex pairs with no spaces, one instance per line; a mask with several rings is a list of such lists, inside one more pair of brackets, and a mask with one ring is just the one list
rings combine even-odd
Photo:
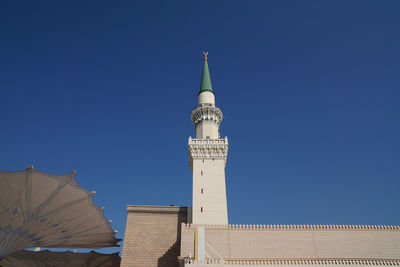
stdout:
[[192,139],[189,138],[189,158],[216,159],[223,158],[226,162],[228,156],[228,138],[225,139]]

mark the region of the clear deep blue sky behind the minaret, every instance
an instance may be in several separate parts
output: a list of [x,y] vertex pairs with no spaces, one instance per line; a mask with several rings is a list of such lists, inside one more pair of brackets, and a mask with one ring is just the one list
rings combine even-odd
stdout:
[[191,205],[207,50],[230,223],[399,224],[399,12],[390,0],[1,1],[0,169],[77,170],[119,238],[127,204]]

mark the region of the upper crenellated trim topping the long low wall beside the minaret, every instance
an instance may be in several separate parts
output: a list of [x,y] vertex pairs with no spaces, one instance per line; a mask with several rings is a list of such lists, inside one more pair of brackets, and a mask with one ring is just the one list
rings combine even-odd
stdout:
[[[208,224],[203,225],[206,229],[240,229],[240,230],[386,230],[400,231],[398,225],[265,225],[265,224]],[[195,228],[195,224],[184,224],[184,228]]]

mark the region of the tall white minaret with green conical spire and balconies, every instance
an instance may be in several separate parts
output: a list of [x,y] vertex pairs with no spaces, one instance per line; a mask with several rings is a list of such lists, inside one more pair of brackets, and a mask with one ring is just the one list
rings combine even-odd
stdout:
[[228,224],[226,204],[225,165],[228,138],[221,138],[219,125],[223,115],[215,106],[214,91],[204,52],[203,75],[198,105],[192,111],[196,138],[189,137],[189,163],[193,172],[194,224]]

